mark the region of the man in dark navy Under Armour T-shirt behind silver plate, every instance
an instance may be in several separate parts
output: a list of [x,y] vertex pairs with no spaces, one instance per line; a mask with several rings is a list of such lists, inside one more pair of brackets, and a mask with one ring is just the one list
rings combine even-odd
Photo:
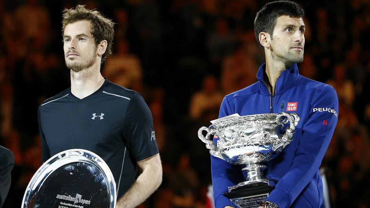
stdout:
[[[62,23],[71,87],[38,109],[42,160],[68,149],[92,151],[114,175],[117,208],[136,207],[162,182],[151,112],[139,93],[101,76],[114,23],[80,5],[65,9]],[[136,165],[141,174],[135,181]]]

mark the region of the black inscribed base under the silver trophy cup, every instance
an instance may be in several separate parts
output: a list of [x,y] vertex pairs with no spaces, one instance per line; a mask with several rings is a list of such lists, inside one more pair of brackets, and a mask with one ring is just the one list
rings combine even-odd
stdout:
[[268,181],[263,181],[229,187],[230,191],[223,195],[230,199],[235,208],[258,208],[273,188]]

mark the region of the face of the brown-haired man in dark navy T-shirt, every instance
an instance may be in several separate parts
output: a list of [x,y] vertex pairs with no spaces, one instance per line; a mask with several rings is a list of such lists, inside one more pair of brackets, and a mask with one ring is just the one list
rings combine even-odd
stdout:
[[64,28],[65,65],[74,72],[91,67],[97,61],[97,47],[90,30],[88,20],[70,23]]

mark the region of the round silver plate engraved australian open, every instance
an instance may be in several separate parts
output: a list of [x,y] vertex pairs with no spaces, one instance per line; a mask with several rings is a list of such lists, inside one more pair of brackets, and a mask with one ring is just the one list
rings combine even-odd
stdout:
[[21,208],[115,208],[108,165],[94,152],[72,149],[47,160],[33,175]]

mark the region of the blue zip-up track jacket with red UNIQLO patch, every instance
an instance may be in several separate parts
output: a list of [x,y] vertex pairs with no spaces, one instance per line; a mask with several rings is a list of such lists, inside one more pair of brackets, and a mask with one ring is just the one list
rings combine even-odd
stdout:
[[[338,97],[333,87],[300,76],[293,64],[276,81],[275,96],[263,82],[266,64],[257,73],[258,82],[226,95],[219,118],[238,113],[297,113],[300,122],[293,141],[279,156],[267,162],[267,178],[277,182],[266,201],[279,208],[319,208],[323,201],[323,185],[319,167],[338,121]],[[215,138],[216,142],[218,139]],[[216,208],[232,206],[222,194],[228,186],[245,181],[241,165],[232,165],[211,156],[213,197]]]

